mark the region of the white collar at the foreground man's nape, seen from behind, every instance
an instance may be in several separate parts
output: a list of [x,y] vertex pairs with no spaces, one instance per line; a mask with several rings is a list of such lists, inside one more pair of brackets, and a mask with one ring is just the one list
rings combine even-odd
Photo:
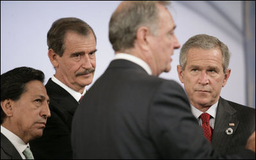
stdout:
[[150,67],[148,66],[148,64],[145,61],[143,61],[142,59],[140,59],[134,55],[119,53],[119,54],[115,55],[115,59],[125,59],[127,61],[134,62],[134,63],[138,64],[139,66],[141,66],[143,69],[145,69],[145,71],[147,71],[148,75],[152,75],[152,71],[151,71]]

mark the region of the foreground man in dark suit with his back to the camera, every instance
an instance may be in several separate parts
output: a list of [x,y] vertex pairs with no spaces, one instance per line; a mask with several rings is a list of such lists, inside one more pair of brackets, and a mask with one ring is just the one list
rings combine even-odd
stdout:
[[[170,71],[170,56],[180,47],[165,5],[124,1],[113,13],[109,40],[115,60],[76,110],[74,159],[218,158],[182,87],[157,78]],[[250,150],[244,152],[255,157]]]

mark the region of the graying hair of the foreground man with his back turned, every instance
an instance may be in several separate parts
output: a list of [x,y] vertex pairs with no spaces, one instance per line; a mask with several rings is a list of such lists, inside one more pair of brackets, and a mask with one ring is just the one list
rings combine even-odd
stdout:
[[146,26],[156,35],[158,9],[156,4],[167,6],[168,1],[124,1],[115,10],[109,21],[109,41],[115,51],[134,47],[136,31]]

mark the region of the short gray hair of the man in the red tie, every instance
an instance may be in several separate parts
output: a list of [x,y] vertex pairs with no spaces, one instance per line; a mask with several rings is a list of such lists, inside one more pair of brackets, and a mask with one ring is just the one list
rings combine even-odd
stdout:
[[225,45],[222,41],[218,40],[218,38],[214,36],[209,36],[207,34],[197,34],[189,38],[189,40],[186,41],[184,45],[182,45],[179,59],[182,70],[184,70],[186,67],[187,54],[191,48],[202,48],[205,50],[220,48],[222,54],[223,71],[225,72],[225,70],[228,68],[230,52],[227,45]]

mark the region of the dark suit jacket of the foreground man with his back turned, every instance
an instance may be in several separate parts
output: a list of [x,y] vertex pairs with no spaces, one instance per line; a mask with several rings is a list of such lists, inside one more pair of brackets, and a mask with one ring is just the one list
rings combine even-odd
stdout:
[[177,82],[118,59],[85,97],[72,122],[74,159],[218,158]]

